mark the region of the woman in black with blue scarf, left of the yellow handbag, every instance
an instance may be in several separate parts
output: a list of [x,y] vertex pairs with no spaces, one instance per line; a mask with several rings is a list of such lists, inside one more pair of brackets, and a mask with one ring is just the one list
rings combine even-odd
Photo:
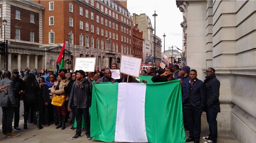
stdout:
[[57,126],[58,125],[58,114],[56,106],[53,106],[52,103],[52,93],[51,89],[54,83],[56,82],[56,75],[51,74],[49,76],[49,82],[46,81],[44,84],[44,104],[45,104],[45,127],[48,127],[50,125],[50,117],[53,115],[54,123]]

